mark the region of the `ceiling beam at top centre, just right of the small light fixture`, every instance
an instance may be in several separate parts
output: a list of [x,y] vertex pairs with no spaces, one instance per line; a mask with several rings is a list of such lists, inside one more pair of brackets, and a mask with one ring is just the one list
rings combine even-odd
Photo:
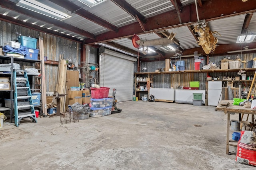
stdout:
[[[126,11],[128,14],[133,16],[136,20],[139,20],[141,23],[145,23],[145,17],[140,14],[135,8],[133,8],[128,2],[125,0],[111,0],[114,2],[117,6],[122,8],[124,11]],[[146,2],[145,2],[146,3]]]

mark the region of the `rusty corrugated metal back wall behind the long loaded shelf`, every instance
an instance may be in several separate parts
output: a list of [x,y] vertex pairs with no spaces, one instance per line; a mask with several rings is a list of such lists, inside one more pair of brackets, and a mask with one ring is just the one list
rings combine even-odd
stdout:
[[[223,55],[223,56],[210,56],[209,57],[209,62],[215,63],[216,66],[220,66],[221,60],[223,58],[230,58],[231,60],[236,60],[236,57],[240,57],[241,60],[245,61],[250,61],[253,58],[256,57],[256,53],[247,53],[247,54],[242,54],[240,53],[239,55]],[[175,63],[175,61],[180,60],[180,59],[171,59],[172,63]],[[194,70],[194,58],[190,59],[182,59],[182,61],[185,61],[185,68],[186,70]],[[204,57],[204,63],[206,64],[206,57]],[[165,67],[165,61],[154,61],[154,62],[144,62],[142,63],[140,61],[140,70],[137,70],[138,68],[138,62],[134,63],[134,72],[142,72],[142,68],[146,67],[147,72],[155,72],[157,68],[164,68]],[[247,68],[247,63],[242,63],[241,68]],[[253,76],[254,71],[247,71],[245,72],[247,76]],[[207,73],[179,73],[179,74],[174,74],[170,72],[170,74],[151,74],[152,75],[152,80],[153,80],[153,88],[176,88],[177,86],[184,86],[184,87],[189,87],[189,82],[190,81],[200,81],[200,87],[199,89],[203,90],[206,89],[206,76]],[[237,76],[237,72],[209,72],[209,76],[218,78],[220,76],[232,76],[235,77]],[[245,82],[246,86],[250,86],[251,82]],[[238,87],[238,82],[234,83],[234,86]]]

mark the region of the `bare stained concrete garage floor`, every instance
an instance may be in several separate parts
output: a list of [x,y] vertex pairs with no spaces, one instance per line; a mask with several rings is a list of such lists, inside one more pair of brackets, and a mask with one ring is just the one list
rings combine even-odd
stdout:
[[215,107],[131,101],[118,108],[79,123],[5,123],[0,169],[255,170],[226,155],[227,118]]

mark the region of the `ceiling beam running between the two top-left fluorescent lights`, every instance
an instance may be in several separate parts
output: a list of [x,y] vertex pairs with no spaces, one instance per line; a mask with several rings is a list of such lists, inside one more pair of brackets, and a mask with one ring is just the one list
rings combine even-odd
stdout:
[[84,10],[80,6],[76,6],[74,3],[72,3],[68,0],[49,0],[49,1],[65,8],[67,10],[70,10],[71,12],[74,12],[75,14],[77,14],[83,18],[86,18],[87,20],[97,23],[98,25],[101,25],[102,27],[105,27],[106,29],[109,29],[110,31],[115,31],[115,32],[118,31],[118,28],[115,25],[112,25],[111,23],[108,23],[107,21],[102,20],[101,18]]

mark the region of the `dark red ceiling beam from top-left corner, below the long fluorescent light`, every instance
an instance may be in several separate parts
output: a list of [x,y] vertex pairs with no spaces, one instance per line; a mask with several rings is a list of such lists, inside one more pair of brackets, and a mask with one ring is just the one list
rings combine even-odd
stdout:
[[2,8],[7,8],[9,10],[18,12],[20,14],[24,14],[24,15],[29,16],[31,18],[36,18],[37,20],[44,21],[45,23],[49,23],[49,24],[55,25],[57,27],[66,29],[68,31],[72,31],[74,33],[83,35],[83,36],[88,37],[90,39],[94,39],[94,37],[95,37],[94,34],[92,34],[92,33],[89,33],[87,31],[84,31],[82,29],[74,27],[74,26],[69,25],[67,23],[64,23],[63,21],[56,20],[54,18],[39,14],[37,12],[33,12],[31,10],[26,10],[25,8],[16,6],[16,4],[14,2],[10,2],[8,0],[0,0],[0,6],[2,6]]

